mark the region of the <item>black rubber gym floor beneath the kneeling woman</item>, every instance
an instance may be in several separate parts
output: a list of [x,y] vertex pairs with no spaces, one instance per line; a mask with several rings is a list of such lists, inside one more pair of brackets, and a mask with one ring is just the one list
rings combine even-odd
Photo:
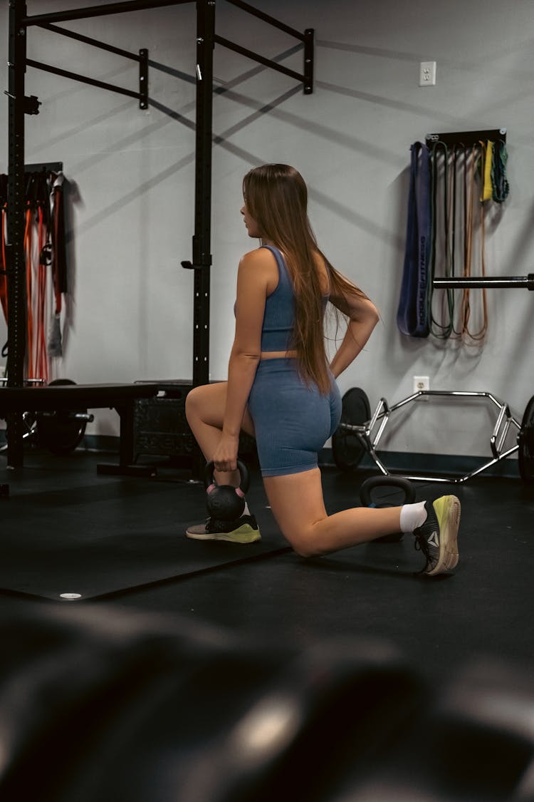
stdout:
[[[102,454],[26,453],[23,468],[0,456],[4,609],[30,601],[112,604],[179,614],[243,637],[304,647],[333,634],[384,638],[424,670],[446,678],[472,656],[534,658],[534,487],[479,476],[465,484],[419,483],[417,498],[455,492],[462,502],[460,564],[430,579],[412,537],[303,560],[276,528],[260,477],[249,504],[262,541],[190,541],[203,520],[202,484],[160,464],[155,477],[100,476]],[[323,468],[330,512],[359,504],[370,472]],[[398,493],[383,491],[397,503]],[[76,602],[62,593],[76,593]]]

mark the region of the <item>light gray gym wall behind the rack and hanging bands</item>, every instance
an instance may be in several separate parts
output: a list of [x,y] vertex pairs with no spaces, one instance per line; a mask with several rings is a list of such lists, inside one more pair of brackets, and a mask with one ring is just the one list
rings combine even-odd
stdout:
[[[86,5],[28,0],[29,14]],[[98,3],[96,3],[98,5]],[[240,255],[252,243],[239,215],[251,166],[294,164],[310,188],[311,220],[331,261],[379,306],[367,349],[340,379],[360,386],[371,407],[432,389],[492,391],[520,418],[532,383],[532,294],[488,292],[482,348],[399,334],[395,312],[404,259],[409,146],[434,131],[508,130],[511,192],[488,232],[488,272],[532,272],[534,148],[531,0],[263,0],[256,5],[316,32],[315,92],[217,47],[213,148],[211,376],[226,376]],[[29,68],[26,94],[41,112],[26,117],[26,161],[62,160],[73,189],[72,297],[65,353],[55,375],[78,383],[191,378],[191,258],[195,119],[195,4],[62,23],[153,62],[151,98],[135,100]],[[0,84],[7,87],[7,3]],[[301,69],[295,41],[217,0],[217,31]],[[137,68],[117,56],[37,28],[30,58],[136,87]],[[419,87],[421,61],[437,62],[436,87]],[[171,75],[172,72],[175,75]],[[7,170],[7,99],[0,119]],[[6,330],[0,322],[0,340]],[[485,455],[494,411],[480,403],[417,403],[390,428],[395,451]],[[88,433],[118,433],[113,411],[96,411]]]

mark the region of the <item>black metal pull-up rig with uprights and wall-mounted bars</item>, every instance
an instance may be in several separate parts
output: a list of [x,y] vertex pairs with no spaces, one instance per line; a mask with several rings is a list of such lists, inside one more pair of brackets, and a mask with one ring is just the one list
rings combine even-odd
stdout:
[[[106,14],[121,14],[127,11],[155,9],[161,6],[178,6],[194,0],[122,0],[103,3],[101,6],[27,15],[26,0],[9,0],[9,181],[8,181],[8,241],[6,259],[8,270],[8,387],[22,387],[26,350],[26,265],[24,258],[24,139],[25,114],[38,113],[38,100],[25,96],[26,65],[55,75],[89,83],[122,95],[139,99],[139,107],[150,105],[148,96],[148,51],[143,48],[139,55],[119,51],[104,43],[98,43],[74,31],[62,30],[51,25],[75,19],[100,17]],[[271,59],[240,47],[215,35],[215,0],[196,0],[196,148],[195,148],[195,233],[193,235],[192,261],[183,261],[183,267],[193,268],[193,385],[209,380],[209,310],[211,273],[211,142],[213,106],[213,51],[215,43],[231,48],[247,58],[282,72],[303,84],[305,95],[313,91],[314,75],[314,30],[303,33],[286,26],[269,14],[265,14],[243,0],[227,0],[232,5],[252,14],[272,26],[279,27],[303,43],[303,72],[290,70]],[[26,58],[26,33],[29,26],[48,27],[58,34],[114,51],[139,61],[139,92],[115,87],[83,75],[58,69]],[[22,465],[22,412],[10,414],[8,419],[10,436],[8,441],[8,463],[11,467]]]

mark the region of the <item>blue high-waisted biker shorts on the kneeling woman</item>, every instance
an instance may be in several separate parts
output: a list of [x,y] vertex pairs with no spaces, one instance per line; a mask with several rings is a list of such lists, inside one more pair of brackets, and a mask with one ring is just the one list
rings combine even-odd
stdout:
[[262,359],[248,409],[262,476],[286,476],[317,468],[321,448],[339,426],[341,395],[333,376],[322,395],[300,377],[295,359]]

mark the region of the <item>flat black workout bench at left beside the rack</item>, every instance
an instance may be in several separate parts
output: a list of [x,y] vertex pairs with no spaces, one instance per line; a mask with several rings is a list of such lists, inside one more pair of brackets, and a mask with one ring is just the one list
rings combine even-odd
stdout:
[[[151,472],[148,466],[135,465],[134,407],[137,399],[158,395],[157,383],[134,384],[66,384],[47,387],[0,387],[0,418],[22,412],[54,410],[76,411],[86,409],[114,409],[120,415],[120,442],[118,465],[99,464],[99,473],[143,474]],[[8,464],[10,448],[8,440]]]

